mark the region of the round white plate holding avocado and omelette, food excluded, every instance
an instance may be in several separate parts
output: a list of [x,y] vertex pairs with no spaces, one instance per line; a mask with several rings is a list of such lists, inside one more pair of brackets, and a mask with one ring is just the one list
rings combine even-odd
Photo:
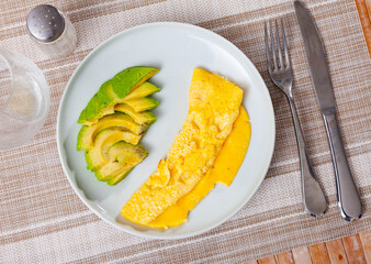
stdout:
[[[100,85],[131,66],[160,69],[150,81],[161,88],[154,97],[158,120],[142,144],[148,157],[119,185],[98,182],[86,167],[83,152],[76,151],[81,110]],[[121,217],[120,210],[166,157],[188,111],[188,92],[194,67],[217,73],[244,89],[243,105],[251,119],[251,142],[231,187],[216,186],[178,228],[155,230]],[[57,123],[61,165],[80,199],[99,217],[128,233],[178,239],[205,232],[236,213],[255,194],[266,176],[274,145],[274,116],[268,89],[252,63],[222,36],[189,24],[139,25],[111,37],[83,59],[67,84]]]

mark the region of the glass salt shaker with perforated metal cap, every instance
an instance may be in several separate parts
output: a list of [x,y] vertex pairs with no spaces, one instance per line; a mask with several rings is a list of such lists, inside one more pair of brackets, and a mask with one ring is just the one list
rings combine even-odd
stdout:
[[31,10],[27,30],[38,48],[52,57],[67,56],[77,46],[72,23],[66,14],[49,4]]

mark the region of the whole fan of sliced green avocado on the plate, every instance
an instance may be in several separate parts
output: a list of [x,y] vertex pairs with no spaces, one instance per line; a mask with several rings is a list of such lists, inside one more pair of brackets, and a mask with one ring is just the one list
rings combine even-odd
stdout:
[[77,150],[86,151],[87,168],[108,185],[120,183],[148,155],[138,143],[157,120],[149,110],[158,101],[149,96],[160,89],[146,81],[157,73],[144,66],[120,72],[102,84],[80,113]]

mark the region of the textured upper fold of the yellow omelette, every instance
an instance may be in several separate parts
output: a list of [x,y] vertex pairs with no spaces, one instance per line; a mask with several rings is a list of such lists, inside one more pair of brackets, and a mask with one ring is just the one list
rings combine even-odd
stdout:
[[[213,177],[212,186],[217,180],[223,182],[223,178],[215,178],[212,168],[239,116],[241,99],[243,90],[235,84],[195,68],[184,124],[167,158],[159,162],[157,170],[123,207],[123,217],[138,224],[167,228],[170,224],[156,224],[157,218],[196,189],[202,179]],[[191,204],[195,206],[196,202]]]

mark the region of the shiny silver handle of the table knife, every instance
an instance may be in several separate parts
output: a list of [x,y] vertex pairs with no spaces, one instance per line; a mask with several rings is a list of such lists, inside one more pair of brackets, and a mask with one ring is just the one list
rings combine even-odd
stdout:
[[337,200],[341,217],[347,221],[360,219],[362,216],[362,205],[357,187],[351,176],[347,156],[342,146],[342,141],[337,124],[335,109],[323,111],[329,150],[331,153]]

